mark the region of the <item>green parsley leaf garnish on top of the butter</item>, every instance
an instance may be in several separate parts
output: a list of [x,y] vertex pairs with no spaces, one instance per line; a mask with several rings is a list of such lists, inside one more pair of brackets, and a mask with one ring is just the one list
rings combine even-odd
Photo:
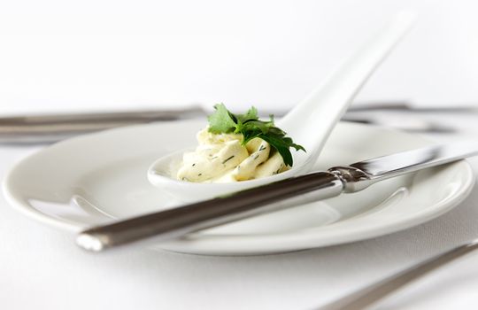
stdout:
[[274,126],[274,115],[270,115],[270,120],[259,120],[258,109],[251,107],[245,114],[234,114],[227,110],[226,105],[214,105],[216,110],[208,116],[209,132],[212,134],[242,134],[243,145],[253,138],[261,138],[269,143],[276,151],[281,154],[284,164],[292,167],[292,154],[289,149],[293,147],[296,151],[305,151],[302,145],[292,141],[289,136],[281,129]]

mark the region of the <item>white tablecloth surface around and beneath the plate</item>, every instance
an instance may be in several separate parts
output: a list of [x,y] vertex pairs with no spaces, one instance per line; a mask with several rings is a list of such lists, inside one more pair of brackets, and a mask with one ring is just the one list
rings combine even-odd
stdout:
[[[473,137],[475,115],[459,121]],[[455,124],[456,126],[456,124]],[[41,147],[7,147],[0,176]],[[474,169],[478,160],[470,159]],[[45,180],[48,182],[48,180]],[[450,213],[389,236],[322,249],[252,257],[208,257],[143,249],[91,254],[73,236],[26,218],[0,198],[0,303],[4,308],[312,309],[478,236],[478,189]],[[478,253],[412,284],[378,308],[472,308]]]

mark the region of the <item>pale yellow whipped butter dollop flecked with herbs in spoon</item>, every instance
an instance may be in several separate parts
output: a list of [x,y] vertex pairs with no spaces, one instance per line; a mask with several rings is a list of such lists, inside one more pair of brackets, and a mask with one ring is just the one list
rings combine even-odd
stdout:
[[279,174],[288,170],[277,151],[260,138],[245,146],[241,134],[197,133],[197,149],[186,152],[177,179],[187,182],[238,182]]

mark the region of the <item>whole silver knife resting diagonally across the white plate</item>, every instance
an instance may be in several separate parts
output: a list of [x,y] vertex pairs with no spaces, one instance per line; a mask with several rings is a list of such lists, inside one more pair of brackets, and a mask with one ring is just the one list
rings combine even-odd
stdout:
[[327,171],[87,229],[77,236],[76,243],[86,250],[100,252],[141,240],[163,242],[261,213],[365,190],[382,180],[476,154],[475,142],[450,143],[331,167]]

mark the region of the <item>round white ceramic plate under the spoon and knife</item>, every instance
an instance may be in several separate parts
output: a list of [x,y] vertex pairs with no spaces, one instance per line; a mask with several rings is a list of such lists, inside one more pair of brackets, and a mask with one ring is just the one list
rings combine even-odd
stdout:
[[[28,216],[70,232],[178,205],[150,185],[146,173],[159,156],[196,143],[195,133],[203,127],[204,121],[198,120],[166,122],[57,143],[12,168],[4,180],[5,196]],[[425,144],[429,142],[402,132],[340,123],[316,168]],[[473,183],[471,167],[459,161],[160,246],[177,252],[249,255],[350,243],[429,221],[459,204]]]

